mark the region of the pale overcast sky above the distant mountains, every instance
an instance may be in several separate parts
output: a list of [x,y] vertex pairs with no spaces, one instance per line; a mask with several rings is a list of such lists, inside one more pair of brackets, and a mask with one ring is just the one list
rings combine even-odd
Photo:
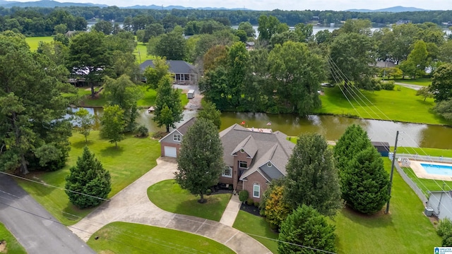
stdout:
[[[37,0],[11,0],[37,1]],[[109,6],[134,6],[155,4],[157,6],[225,7],[249,8],[251,10],[333,10],[345,11],[352,8],[376,10],[393,6],[416,7],[426,10],[452,10],[451,0],[56,0],[59,2],[107,4]]]

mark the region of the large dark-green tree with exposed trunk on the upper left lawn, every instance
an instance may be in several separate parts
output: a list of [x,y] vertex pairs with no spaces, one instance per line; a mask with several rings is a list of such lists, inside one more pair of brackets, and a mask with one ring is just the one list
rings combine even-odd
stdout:
[[95,97],[95,82],[100,81],[102,73],[111,64],[102,32],[81,32],[72,38],[69,44],[69,71],[85,76],[91,87],[91,97]]

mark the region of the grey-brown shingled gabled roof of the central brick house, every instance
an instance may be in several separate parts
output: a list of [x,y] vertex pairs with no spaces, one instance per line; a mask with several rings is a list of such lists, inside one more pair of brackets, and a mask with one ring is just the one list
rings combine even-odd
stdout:
[[[267,162],[271,162],[285,175],[285,165],[287,164],[290,155],[292,155],[292,149],[295,147],[294,143],[287,140],[287,135],[280,131],[275,131],[273,133],[252,131],[243,126],[239,126],[237,123],[226,128],[224,131],[221,131],[220,138],[223,145],[223,160],[225,161],[225,164],[229,166],[234,164],[234,157],[231,156],[234,151],[242,144],[246,147],[246,145],[250,143],[251,138],[254,140],[256,147],[254,159],[251,165],[249,165],[249,169],[242,175],[241,179],[253,174],[255,171],[261,171],[259,167]],[[249,145],[249,147],[246,148],[251,150],[251,147],[252,146]],[[262,171],[261,174],[265,173]]]

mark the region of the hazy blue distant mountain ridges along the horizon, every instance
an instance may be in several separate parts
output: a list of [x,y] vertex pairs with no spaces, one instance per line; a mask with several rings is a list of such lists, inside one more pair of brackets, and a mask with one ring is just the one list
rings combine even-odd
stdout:
[[[52,0],[41,0],[41,1],[27,1],[27,2],[18,2],[18,1],[4,1],[0,0],[0,6],[3,6],[5,8],[11,8],[13,6],[18,7],[48,7],[48,8],[54,8],[54,7],[69,7],[69,6],[97,6],[100,8],[108,7],[105,4],[90,4],[90,3],[61,3],[59,1],[52,1]],[[127,6],[127,7],[119,7],[119,8],[136,8],[136,9],[154,9],[154,10],[172,10],[172,9],[179,9],[179,10],[189,10],[189,9],[198,9],[198,10],[242,10],[242,11],[252,11],[248,8],[215,8],[215,7],[200,7],[200,8],[194,8],[194,7],[184,7],[184,6],[156,6],[155,4],[150,6]],[[415,8],[415,7],[403,7],[403,6],[395,6],[391,8],[382,8],[378,10],[369,10],[369,9],[350,9],[346,11],[356,11],[356,12],[403,12],[403,11],[428,11],[424,10],[422,8]]]

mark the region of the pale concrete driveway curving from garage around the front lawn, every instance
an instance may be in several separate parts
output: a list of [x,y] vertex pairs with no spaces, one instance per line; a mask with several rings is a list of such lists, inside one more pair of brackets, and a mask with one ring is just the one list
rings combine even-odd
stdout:
[[73,225],[71,230],[84,241],[88,241],[95,231],[110,222],[132,222],[206,236],[240,254],[271,253],[268,248],[242,231],[220,222],[167,212],[150,202],[148,187],[159,181],[173,179],[176,168],[174,159],[158,158],[156,167]]

